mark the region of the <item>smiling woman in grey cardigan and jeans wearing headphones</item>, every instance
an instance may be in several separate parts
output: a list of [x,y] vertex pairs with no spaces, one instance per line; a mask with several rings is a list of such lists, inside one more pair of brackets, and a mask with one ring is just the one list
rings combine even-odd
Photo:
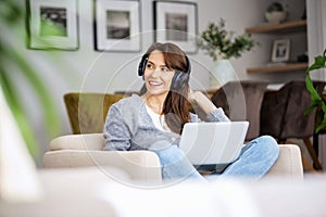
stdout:
[[[200,91],[189,88],[190,62],[173,43],[154,43],[142,56],[138,75],[145,87],[113,104],[104,125],[104,150],[150,150],[158,154],[163,179],[203,179],[178,149],[183,127],[188,122],[201,122],[189,113],[187,103],[196,103],[210,122],[229,122],[221,107]],[[278,145],[268,136],[247,143],[239,158],[221,176],[261,178],[278,157]]]

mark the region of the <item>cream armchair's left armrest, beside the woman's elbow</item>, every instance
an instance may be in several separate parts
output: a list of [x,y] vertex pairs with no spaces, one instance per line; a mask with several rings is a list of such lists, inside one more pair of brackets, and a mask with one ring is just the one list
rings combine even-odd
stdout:
[[[46,168],[75,168],[96,166],[113,179],[114,174],[105,168],[118,168],[129,175],[133,180],[145,182],[161,182],[161,166],[159,157],[150,151],[87,151],[58,150],[43,155]],[[126,181],[126,180],[121,180]]]

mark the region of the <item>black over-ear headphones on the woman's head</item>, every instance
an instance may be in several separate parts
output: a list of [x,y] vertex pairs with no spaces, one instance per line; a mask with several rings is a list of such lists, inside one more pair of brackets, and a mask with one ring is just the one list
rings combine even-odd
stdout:
[[[149,56],[149,54],[146,53],[141,58],[141,61],[140,61],[139,66],[138,66],[138,75],[139,76],[143,76],[146,64],[147,64],[147,61],[148,61],[148,56]],[[171,84],[171,89],[173,89],[173,90],[181,89],[189,79],[189,75],[190,75],[190,72],[191,72],[191,64],[190,64],[190,61],[189,61],[188,56],[185,55],[185,58],[186,58],[186,61],[187,61],[186,72],[180,72],[180,71],[175,72],[175,75],[174,75],[174,77],[172,79],[172,84]]]

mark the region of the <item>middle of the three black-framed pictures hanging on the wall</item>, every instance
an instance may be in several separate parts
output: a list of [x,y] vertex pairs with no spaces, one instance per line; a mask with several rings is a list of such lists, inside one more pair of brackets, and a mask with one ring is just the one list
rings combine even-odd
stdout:
[[95,49],[140,51],[139,1],[95,0]]

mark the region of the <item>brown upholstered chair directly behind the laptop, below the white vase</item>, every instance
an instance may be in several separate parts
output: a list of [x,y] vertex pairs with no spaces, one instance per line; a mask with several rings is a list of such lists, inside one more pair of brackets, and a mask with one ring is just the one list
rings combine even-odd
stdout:
[[260,136],[260,112],[267,82],[241,80],[230,81],[213,93],[211,100],[231,120],[250,123],[246,140]]

